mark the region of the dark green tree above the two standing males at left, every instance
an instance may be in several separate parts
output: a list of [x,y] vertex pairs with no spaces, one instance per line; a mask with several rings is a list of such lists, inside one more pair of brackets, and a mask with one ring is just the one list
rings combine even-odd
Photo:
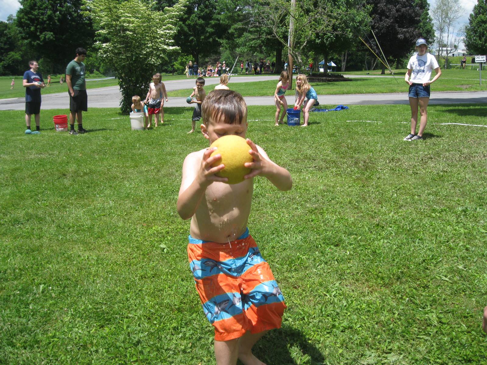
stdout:
[[50,72],[60,72],[75,57],[75,49],[88,49],[94,31],[90,17],[82,14],[83,0],[20,0],[17,12],[19,36],[32,58],[52,63]]

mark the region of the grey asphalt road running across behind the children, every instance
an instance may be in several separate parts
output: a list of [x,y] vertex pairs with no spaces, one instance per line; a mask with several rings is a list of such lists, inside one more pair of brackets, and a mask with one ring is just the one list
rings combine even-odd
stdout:
[[[348,76],[347,76],[348,77]],[[364,76],[355,76],[364,77]],[[381,76],[370,76],[381,77]],[[382,76],[384,77],[384,76]],[[386,76],[390,77],[390,76]],[[251,82],[264,80],[277,80],[277,75],[272,76],[239,76],[231,79],[234,82]],[[207,78],[206,85],[216,85],[219,78]],[[165,81],[167,91],[190,89],[195,84],[195,79]],[[325,105],[375,105],[375,104],[409,104],[406,92],[380,93],[380,94],[344,94],[344,95],[318,95],[320,104]],[[272,91],[270,91],[272,92]],[[100,89],[88,89],[88,108],[118,108],[120,106],[121,93],[118,86],[110,86]],[[286,96],[288,105],[294,105],[294,95]],[[272,105],[273,96],[247,96],[247,105]],[[433,91],[431,104],[459,104],[459,103],[485,103],[487,104],[487,91]],[[164,104],[166,107],[187,107],[186,97],[169,98]],[[42,95],[42,109],[69,108],[68,92]],[[24,110],[25,99],[12,98],[1,99],[0,110]]]

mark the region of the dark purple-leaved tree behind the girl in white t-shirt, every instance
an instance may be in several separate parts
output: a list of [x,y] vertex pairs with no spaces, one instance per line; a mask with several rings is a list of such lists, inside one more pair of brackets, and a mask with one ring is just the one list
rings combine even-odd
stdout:
[[[408,55],[418,37],[428,37],[421,34],[424,29],[421,18],[424,14],[424,5],[416,0],[368,0],[373,6],[371,28],[377,42],[388,61],[398,60]],[[371,35],[369,38],[374,39]],[[427,41],[431,39],[426,38]],[[380,53],[380,50],[375,47]],[[382,65],[382,73],[385,66]]]

